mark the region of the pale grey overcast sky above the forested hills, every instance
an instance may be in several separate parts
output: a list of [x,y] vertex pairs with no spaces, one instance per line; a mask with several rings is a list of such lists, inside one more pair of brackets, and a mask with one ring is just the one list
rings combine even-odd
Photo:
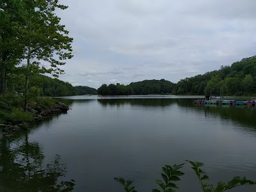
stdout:
[[256,0],[60,0],[74,86],[180,79],[256,54]]

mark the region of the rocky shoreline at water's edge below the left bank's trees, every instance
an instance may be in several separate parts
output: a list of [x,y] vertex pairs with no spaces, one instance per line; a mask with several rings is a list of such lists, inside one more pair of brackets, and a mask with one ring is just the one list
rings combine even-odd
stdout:
[[68,106],[62,102],[54,104],[54,106],[52,106],[49,109],[28,107],[29,113],[33,113],[34,115],[34,120],[32,122],[25,122],[20,124],[13,124],[13,122],[0,124],[0,139],[3,137],[9,138],[13,136],[14,132],[17,131],[28,130],[29,125],[35,124],[36,122],[43,120],[44,118],[51,116],[53,114],[67,112],[68,109]]

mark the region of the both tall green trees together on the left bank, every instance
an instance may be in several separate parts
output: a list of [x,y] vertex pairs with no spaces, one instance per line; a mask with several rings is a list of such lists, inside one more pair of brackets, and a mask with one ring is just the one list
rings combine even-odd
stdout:
[[60,66],[72,58],[73,39],[56,15],[57,9],[66,8],[58,0],[0,1],[0,93],[18,79],[25,111],[29,92],[35,92],[30,90],[31,78],[45,73],[58,77],[63,74]]

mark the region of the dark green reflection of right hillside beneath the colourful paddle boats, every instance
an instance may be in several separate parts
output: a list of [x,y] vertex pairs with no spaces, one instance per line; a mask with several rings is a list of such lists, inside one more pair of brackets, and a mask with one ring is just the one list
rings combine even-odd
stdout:
[[[198,105],[193,103],[194,99],[178,100],[178,106],[189,108],[191,111],[204,113],[205,116],[220,116],[224,120],[232,120],[246,127],[256,129],[256,109],[247,106],[216,106],[216,105]],[[200,118],[200,116],[198,116]],[[252,130],[252,129],[251,129]],[[256,130],[255,130],[256,131]]]

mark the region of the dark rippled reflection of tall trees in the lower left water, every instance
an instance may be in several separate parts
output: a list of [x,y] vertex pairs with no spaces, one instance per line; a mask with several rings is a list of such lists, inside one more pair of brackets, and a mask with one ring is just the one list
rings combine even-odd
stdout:
[[66,169],[58,155],[45,166],[42,147],[28,135],[0,140],[0,191],[72,191]]

